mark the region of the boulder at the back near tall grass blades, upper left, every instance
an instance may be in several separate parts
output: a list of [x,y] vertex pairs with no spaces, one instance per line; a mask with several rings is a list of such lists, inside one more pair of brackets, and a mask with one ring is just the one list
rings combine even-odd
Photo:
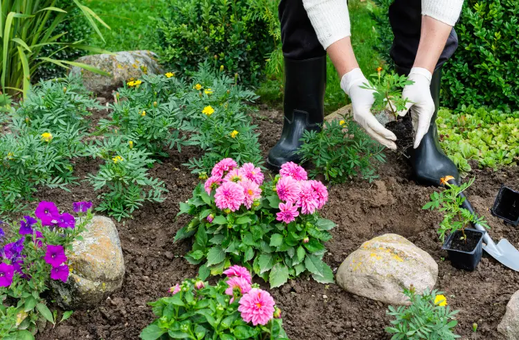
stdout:
[[124,51],[111,54],[95,54],[80,57],[76,62],[94,66],[110,74],[100,75],[73,66],[71,75],[82,75],[86,89],[100,96],[110,96],[111,92],[131,78],[137,79],[144,74],[163,73],[155,53],[151,51]]

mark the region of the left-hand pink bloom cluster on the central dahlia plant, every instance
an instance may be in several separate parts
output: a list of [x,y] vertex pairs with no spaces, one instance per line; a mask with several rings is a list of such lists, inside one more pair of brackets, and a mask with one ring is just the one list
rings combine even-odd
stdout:
[[250,209],[255,199],[260,199],[263,179],[261,169],[253,163],[238,168],[233,159],[226,158],[212,168],[211,177],[203,187],[208,195],[215,190],[215,203],[219,209],[237,211],[242,205]]

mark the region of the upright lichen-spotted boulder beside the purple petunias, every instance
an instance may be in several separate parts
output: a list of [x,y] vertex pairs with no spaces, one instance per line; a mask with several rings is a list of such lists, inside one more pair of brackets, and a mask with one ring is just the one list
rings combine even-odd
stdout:
[[101,216],[93,217],[67,253],[73,269],[66,283],[53,281],[57,303],[66,309],[91,307],[122,286],[125,261],[115,224]]

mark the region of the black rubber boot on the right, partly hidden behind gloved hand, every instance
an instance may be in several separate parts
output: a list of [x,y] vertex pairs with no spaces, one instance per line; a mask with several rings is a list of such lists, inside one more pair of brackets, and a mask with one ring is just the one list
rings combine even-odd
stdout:
[[[411,70],[397,66],[397,73],[409,74]],[[430,120],[429,130],[421,140],[420,145],[407,151],[415,181],[422,186],[441,186],[440,179],[446,176],[455,177],[459,183],[459,172],[456,165],[441,150],[438,139],[436,118],[439,107],[439,87],[441,84],[441,67],[432,74],[430,94],[435,102],[435,114]]]

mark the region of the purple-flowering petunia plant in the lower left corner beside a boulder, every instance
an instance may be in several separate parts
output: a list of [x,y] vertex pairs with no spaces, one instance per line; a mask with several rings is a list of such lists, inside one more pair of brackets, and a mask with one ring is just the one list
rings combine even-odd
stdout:
[[[72,250],[74,240],[81,240],[91,208],[91,202],[74,203],[73,211],[80,217],[76,218],[60,213],[52,202],[40,202],[35,216],[27,215],[19,226],[12,226],[15,235],[10,240],[0,228],[0,339],[33,339],[39,318],[55,323],[41,294],[51,280],[68,280],[73,269],[66,251]],[[66,312],[62,320],[70,315]],[[11,321],[4,324],[4,316]]]

